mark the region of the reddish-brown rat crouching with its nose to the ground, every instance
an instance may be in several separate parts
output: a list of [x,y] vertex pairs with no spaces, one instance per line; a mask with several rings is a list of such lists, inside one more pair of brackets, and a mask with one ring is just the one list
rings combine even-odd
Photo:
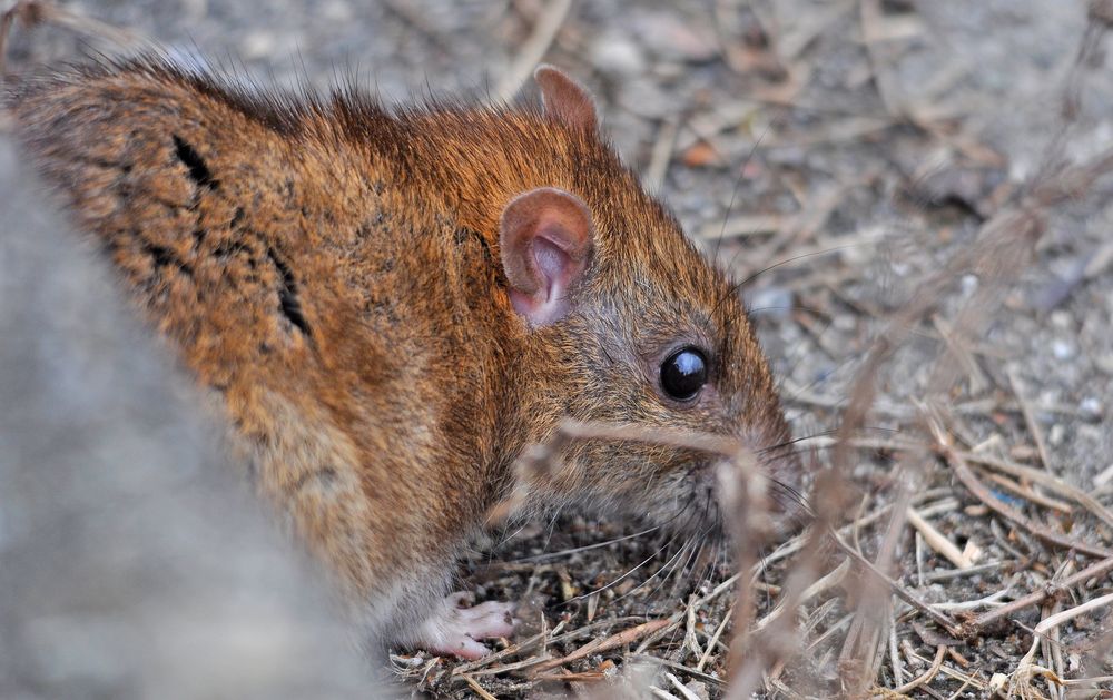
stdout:
[[[474,659],[512,634],[511,604],[451,592],[454,562],[564,420],[737,438],[775,482],[798,469],[738,287],[623,166],[589,91],[534,78],[540,105],[388,109],[147,55],[9,90],[29,159],[382,645]],[[725,531],[713,455],[558,456],[523,513]]]

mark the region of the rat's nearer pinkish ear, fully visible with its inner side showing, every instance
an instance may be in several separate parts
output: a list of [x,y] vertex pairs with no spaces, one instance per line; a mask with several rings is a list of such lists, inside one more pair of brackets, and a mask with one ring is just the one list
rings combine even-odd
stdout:
[[499,247],[514,310],[531,327],[568,315],[568,289],[591,257],[594,227],[579,197],[539,187],[502,210]]

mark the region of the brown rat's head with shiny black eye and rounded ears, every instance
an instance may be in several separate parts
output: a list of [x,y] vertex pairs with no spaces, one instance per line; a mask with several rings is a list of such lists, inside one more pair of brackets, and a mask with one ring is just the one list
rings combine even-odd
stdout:
[[654,443],[690,431],[738,440],[784,503],[778,484],[795,483],[799,465],[738,287],[600,141],[590,96],[551,68],[538,80],[546,116],[572,136],[570,175],[519,194],[501,217],[510,300],[528,328],[523,412],[543,426],[534,440],[565,418],[640,437],[571,441],[532,477],[535,501],[721,532],[722,457]]

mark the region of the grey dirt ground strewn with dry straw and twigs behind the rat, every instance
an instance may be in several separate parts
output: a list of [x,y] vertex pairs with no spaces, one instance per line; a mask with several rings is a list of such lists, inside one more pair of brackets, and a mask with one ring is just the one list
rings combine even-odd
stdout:
[[[503,533],[465,585],[521,601],[525,629],[472,664],[395,655],[414,692],[626,682],[687,700],[741,692],[749,670],[761,697],[1113,697],[1113,4],[68,7],[264,83],[355,71],[388,102],[532,99],[530,70],[555,63],[686,230],[749,279],[800,451],[830,476],[809,479],[809,501],[846,550],[768,543],[758,632],[738,634],[747,603],[720,586],[736,569],[718,553],[574,514]],[[8,60],[75,49],[19,32]]]

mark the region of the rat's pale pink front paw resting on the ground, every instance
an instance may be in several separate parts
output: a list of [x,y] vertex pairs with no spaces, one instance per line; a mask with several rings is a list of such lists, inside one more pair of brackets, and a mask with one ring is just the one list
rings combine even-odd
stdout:
[[479,659],[490,653],[481,639],[509,637],[514,633],[514,605],[486,602],[471,608],[467,593],[453,593],[437,605],[436,611],[421,623],[417,645],[439,654],[455,654],[461,659]]

